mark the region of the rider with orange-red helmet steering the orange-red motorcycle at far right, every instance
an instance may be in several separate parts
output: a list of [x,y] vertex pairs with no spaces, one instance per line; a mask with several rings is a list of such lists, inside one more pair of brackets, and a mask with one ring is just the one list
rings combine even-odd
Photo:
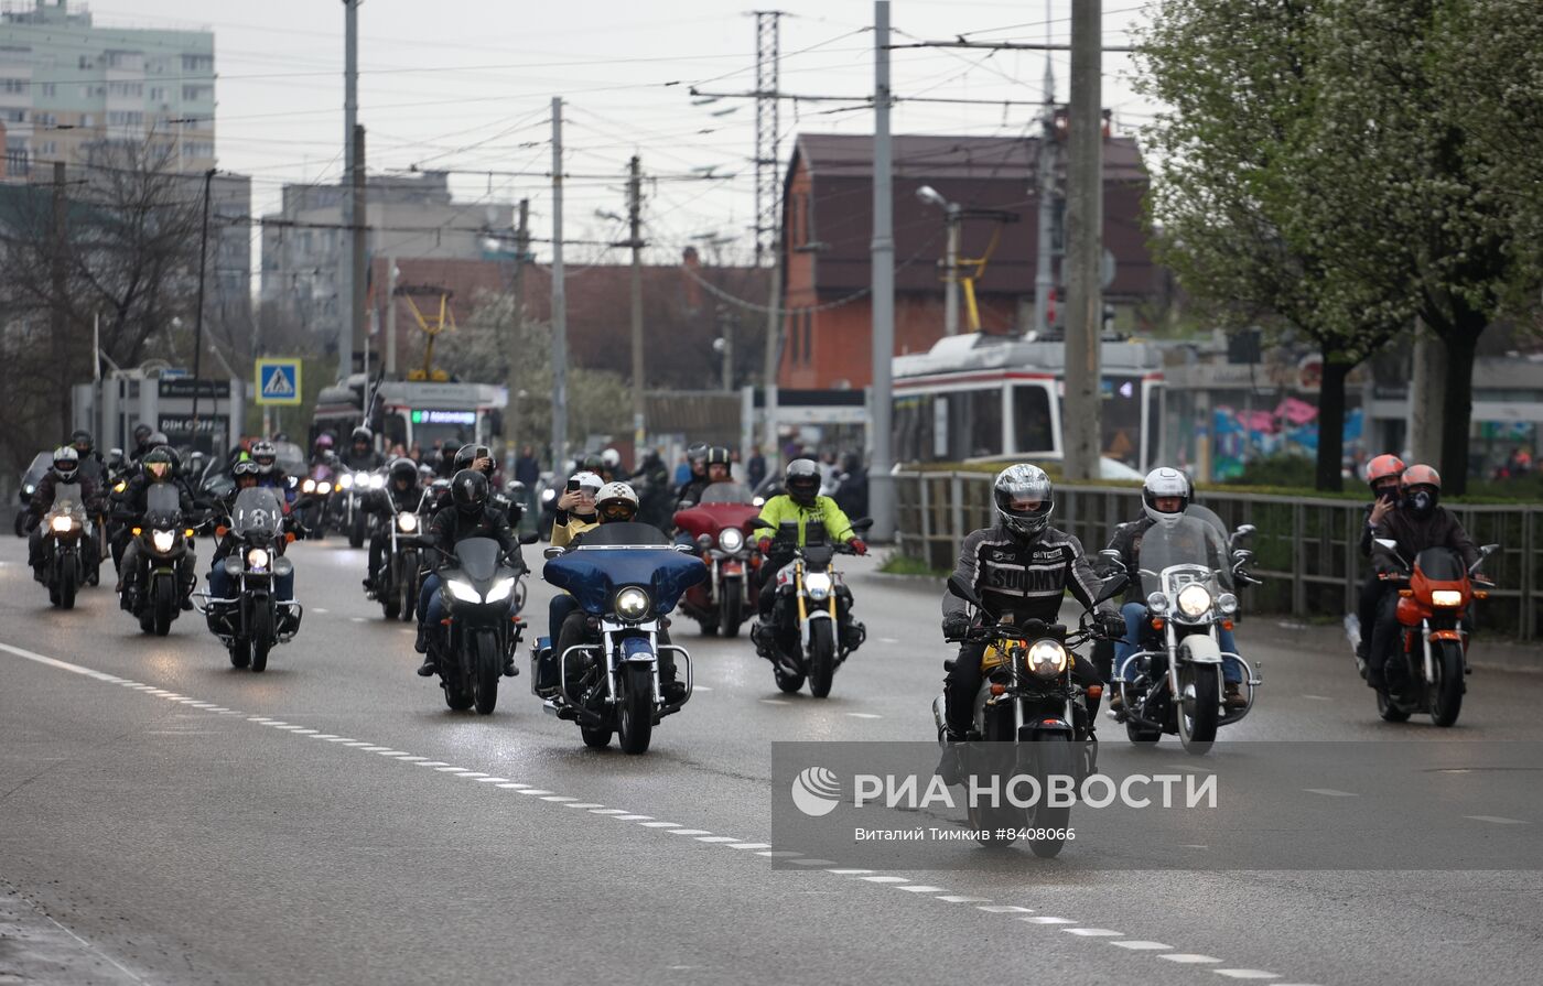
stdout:
[[[1398,483],[1398,506],[1383,515],[1373,537],[1396,542],[1395,551],[1406,565],[1413,565],[1415,555],[1427,548],[1450,548],[1463,557],[1463,568],[1472,568],[1480,557],[1478,548],[1457,515],[1441,506],[1441,474],[1430,466],[1415,464],[1404,469]],[[1372,555],[1372,563],[1379,572],[1392,574],[1398,572],[1398,559],[1378,552]],[[1474,577],[1484,579],[1483,574]],[[1372,630],[1366,684],[1378,690],[1400,684],[1386,680],[1384,668],[1403,671],[1403,662],[1387,662],[1398,643],[1398,593],[1383,596]]]

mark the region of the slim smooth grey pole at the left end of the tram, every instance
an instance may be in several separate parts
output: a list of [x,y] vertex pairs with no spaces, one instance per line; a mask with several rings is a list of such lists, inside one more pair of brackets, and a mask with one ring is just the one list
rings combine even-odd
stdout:
[[873,455],[869,512],[875,542],[895,537],[895,478],[890,475],[890,414],[895,358],[895,196],[889,139],[889,0],[873,3]]

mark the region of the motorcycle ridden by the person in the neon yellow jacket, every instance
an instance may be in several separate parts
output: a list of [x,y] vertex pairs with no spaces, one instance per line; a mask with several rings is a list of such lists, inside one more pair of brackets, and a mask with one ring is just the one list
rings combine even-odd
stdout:
[[[758,528],[772,528],[756,520]],[[852,523],[856,532],[873,526],[863,518]],[[827,540],[822,520],[804,522],[804,546],[798,546],[798,522],[784,522],[772,545],[772,555],[790,554],[776,574],[773,626],[776,656],[772,676],[776,687],[795,693],[809,680],[816,699],[830,694],[836,668],[863,645],[867,630],[852,620],[852,589],[835,569],[836,554],[852,554],[841,542]],[[844,625],[846,623],[846,625]]]

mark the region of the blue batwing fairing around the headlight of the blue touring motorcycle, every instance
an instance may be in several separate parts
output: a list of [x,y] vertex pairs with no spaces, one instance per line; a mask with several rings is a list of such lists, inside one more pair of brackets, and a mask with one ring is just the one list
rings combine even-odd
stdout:
[[619,586],[643,586],[654,603],[654,614],[663,616],[676,608],[688,588],[707,579],[707,566],[663,545],[583,545],[551,559],[543,577],[571,593],[585,613],[596,616],[609,613]]

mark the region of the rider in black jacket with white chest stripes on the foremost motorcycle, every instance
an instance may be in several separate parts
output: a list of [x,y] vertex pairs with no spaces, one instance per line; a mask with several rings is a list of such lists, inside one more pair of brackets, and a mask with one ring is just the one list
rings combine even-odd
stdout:
[[[813,466],[813,463],[810,463]],[[818,472],[815,472],[818,481]],[[1049,526],[1055,509],[1055,488],[1043,469],[1017,463],[997,474],[992,481],[992,503],[997,523],[971,532],[960,548],[954,576],[969,585],[1001,622],[1055,623],[1066,589],[1092,608],[1102,580],[1092,572],[1082,542]],[[1105,634],[1125,631],[1125,620],[1105,603],[1096,616]],[[971,628],[967,603],[952,593],[943,596],[943,637],[960,640]],[[943,684],[947,727],[938,775],[946,784],[960,781],[958,747],[975,716],[975,693],[980,691],[980,662],[986,653],[983,642],[964,642]],[[1099,674],[1088,660],[1072,664],[1072,679],[1082,687],[1099,685]],[[1097,719],[1099,701],[1088,699],[1089,724]]]

